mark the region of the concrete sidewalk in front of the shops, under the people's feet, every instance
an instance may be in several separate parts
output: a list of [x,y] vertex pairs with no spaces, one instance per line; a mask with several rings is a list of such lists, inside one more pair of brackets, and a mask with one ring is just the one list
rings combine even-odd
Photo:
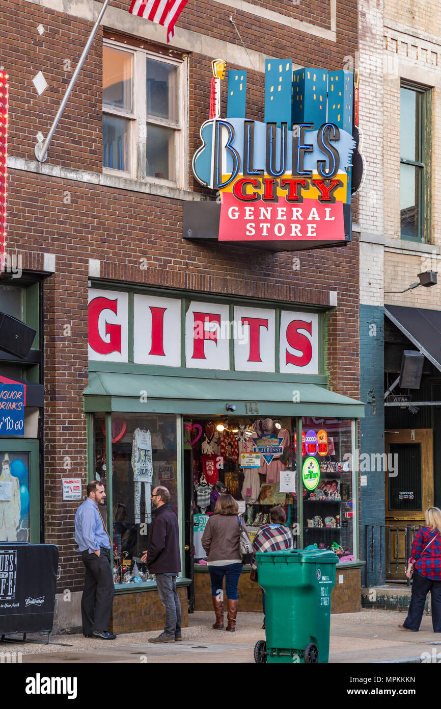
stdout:
[[[388,610],[331,615],[330,663],[420,662],[421,654],[428,652],[431,657],[433,649],[441,659],[441,634],[433,633],[430,616],[423,617],[420,632],[399,630],[404,618],[403,613]],[[23,663],[252,663],[254,645],[265,640],[262,615],[239,613],[234,633],[212,630],[213,622],[212,613],[193,613],[190,627],[183,630],[183,642],[173,644],[147,642],[157,632],[127,633],[113,641],[56,635],[53,642],[70,647],[0,642],[0,652],[21,652]]]

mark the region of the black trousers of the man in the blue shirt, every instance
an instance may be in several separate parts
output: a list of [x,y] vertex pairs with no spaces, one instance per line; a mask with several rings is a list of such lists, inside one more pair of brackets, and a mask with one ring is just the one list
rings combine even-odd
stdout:
[[86,566],[83,596],[81,598],[81,619],[84,635],[91,635],[92,630],[107,630],[112,613],[115,586],[110,549],[101,549],[100,556],[81,552],[81,559]]

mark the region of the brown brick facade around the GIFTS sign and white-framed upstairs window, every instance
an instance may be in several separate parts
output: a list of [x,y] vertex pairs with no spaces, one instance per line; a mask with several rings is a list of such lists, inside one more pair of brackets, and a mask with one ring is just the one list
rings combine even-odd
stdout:
[[[231,301],[248,298],[256,306],[272,301],[318,308],[326,313],[326,385],[340,395],[360,398],[357,198],[353,240],[345,247],[273,254],[195,243],[182,236],[183,203],[210,198],[190,166],[200,145],[200,125],[208,116],[210,62],[223,57],[227,69],[247,70],[247,110],[261,121],[266,57],[287,55],[297,67],[337,70],[357,50],[355,0],[344,6],[333,0],[307,5],[259,0],[244,5],[245,10],[234,0],[190,0],[173,42],[166,45],[164,28],[131,16],[127,3],[113,1],[55,131],[47,161],[40,163],[34,155],[35,135],[38,131],[47,135],[100,4],[0,0],[5,18],[0,63],[8,70],[10,84],[7,248],[11,257],[20,257],[22,278],[40,279],[44,347],[40,381],[45,386],[40,539],[59,548],[59,593],[69,589],[77,594],[83,577],[74,553],[76,504],[62,500],[61,478],[75,474],[84,484],[87,479],[83,392],[88,386],[90,281],[94,287],[154,286],[168,289],[164,291],[168,294],[173,289],[185,291],[190,297],[198,293],[228,296]],[[136,160],[131,174],[103,170],[105,41],[185,66],[182,164],[175,184],[145,175],[137,179]],[[40,71],[48,86],[38,95],[33,78]],[[139,138],[139,143],[145,140]],[[142,145],[135,150],[139,157]],[[11,362],[17,364],[16,359]]]

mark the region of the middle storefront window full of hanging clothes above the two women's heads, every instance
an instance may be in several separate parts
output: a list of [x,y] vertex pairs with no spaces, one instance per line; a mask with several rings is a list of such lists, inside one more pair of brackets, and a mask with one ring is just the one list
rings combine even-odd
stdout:
[[270,508],[283,506],[293,545],[298,546],[293,427],[292,418],[184,419],[184,449],[192,452],[196,564],[205,565],[202,534],[223,491],[238,502],[251,540],[269,522]]

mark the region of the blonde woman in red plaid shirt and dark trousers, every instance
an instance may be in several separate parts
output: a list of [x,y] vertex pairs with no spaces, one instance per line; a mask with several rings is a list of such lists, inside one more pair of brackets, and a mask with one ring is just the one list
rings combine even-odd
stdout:
[[425,510],[427,527],[420,527],[413,540],[406,576],[412,577],[412,596],[408,616],[401,630],[417,632],[423,618],[425,597],[432,596],[433,632],[441,632],[441,510]]

